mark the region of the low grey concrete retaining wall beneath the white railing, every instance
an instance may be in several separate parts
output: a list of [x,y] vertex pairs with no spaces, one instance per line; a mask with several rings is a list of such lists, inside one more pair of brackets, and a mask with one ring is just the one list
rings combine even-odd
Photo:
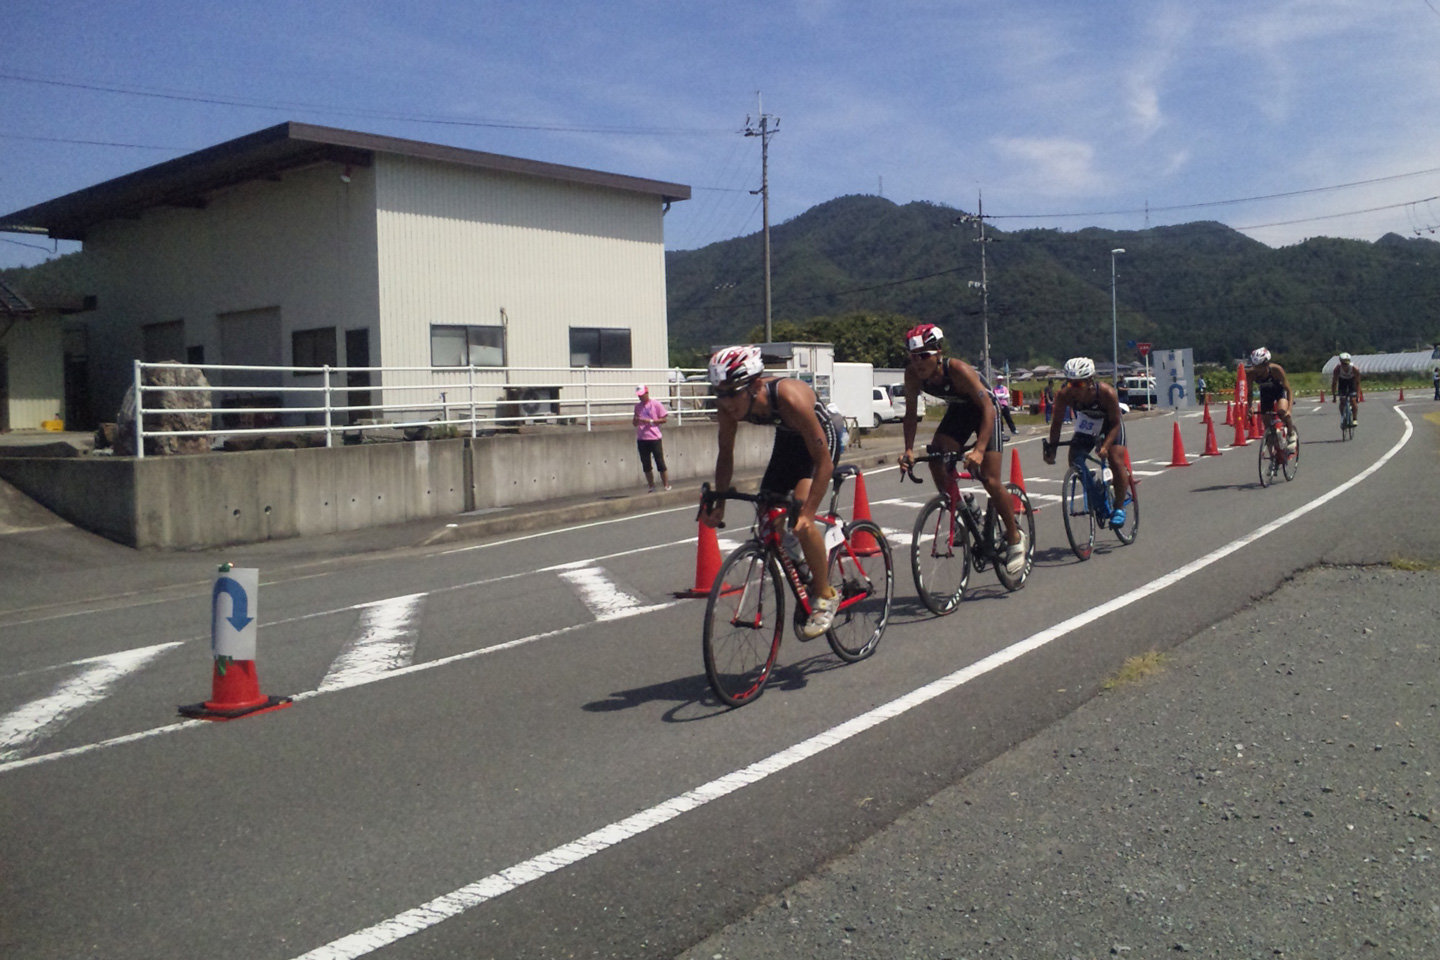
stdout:
[[[763,468],[773,436],[742,426],[736,472]],[[713,423],[665,430],[671,482],[711,476],[714,458]],[[170,550],[361,530],[644,482],[628,429],[143,461],[0,458],[0,478],[79,527]]]

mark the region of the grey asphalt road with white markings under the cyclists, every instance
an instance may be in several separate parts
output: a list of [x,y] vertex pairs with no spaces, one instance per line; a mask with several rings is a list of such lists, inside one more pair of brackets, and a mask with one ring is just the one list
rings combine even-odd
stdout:
[[1083,564],[1058,469],[1021,443],[1038,567],[1014,594],[978,576],[940,620],[901,543],[924,491],[870,474],[897,547],[877,655],[842,666],[788,636],[739,711],[708,694],[701,602],[671,597],[694,577],[690,505],[226,551],[261,569],[264,689],[297,697],[230,724],[174,714],[209,694],[219,554],[10,535],[35,560],[7,550],[0,584],[0,953],[680,954],[1028,756],[1128,658],[1204,643],[1316,564],[1436,558],[1433,406],[1375,399],[1341,443],[1333,407],[1302,404],[1300,474],[1270,489],[1223,427],[1224,455],[1198,458],[1204,427],[1179,420],[1192,465],[1172,468],[1174,420],[1136,420],[1140,538]]

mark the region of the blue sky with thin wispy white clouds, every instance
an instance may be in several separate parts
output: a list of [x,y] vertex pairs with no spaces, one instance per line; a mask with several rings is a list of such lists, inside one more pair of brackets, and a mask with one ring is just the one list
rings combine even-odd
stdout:
[[6,6],[0,213],[295,119],[685,183],[693,249],[760,229],[759,92],[772,225],[984,193],[1002,229],[1440,239],[1440,0]]

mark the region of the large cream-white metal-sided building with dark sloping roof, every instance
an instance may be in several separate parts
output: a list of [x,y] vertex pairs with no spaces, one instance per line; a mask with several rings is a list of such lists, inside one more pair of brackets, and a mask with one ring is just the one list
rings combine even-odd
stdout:
[[[84,242],[89,387],[108,420],[134,358],[665,367],[664,213],[688,197],[683,184],[291,122],[17,210],[0,229]],[[264,376],[243,383],[318,381]]]

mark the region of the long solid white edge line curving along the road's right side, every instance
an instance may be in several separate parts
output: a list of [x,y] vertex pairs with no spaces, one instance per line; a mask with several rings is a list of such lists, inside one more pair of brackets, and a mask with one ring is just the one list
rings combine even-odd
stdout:
[[910,710],[935,699],[936,697],[948,694],[952,689],[971,682],[972,679],[984,676],[985,674],[989,674],[991,671],[998,669],[999,666],[1004,666],[1011,661],[1015,661],[1027,653],[1031,653],[1045,646],[1047,643],[1051,643],[1089,623],[1093,623],[1094,620],[1099,620],[1103,616],[1109,616],[1110,613],[1122,610],[1130,606],[1132,603],[1143,600],[1145,597],[1153,593],[1171,587],[1184,580],[1185,577],[1189,577],[1204,570],[1205,567],[1218,563],[1220,560],[1228,557],[1241,547],[1246,547],[1254,543],[1256,540],[1260,540],[1261,537],[1266,537],[1274,533],[1276,530],[1286,527],[1287,524],[1299,520],[1300,517],[1309,514],[1310,511],[1318,510],[1319,507],[1335,499],[1336,497],[1351,489],[1361,481],[1374,475],[1380,468],[1388,463],[1405,446],[1405,443],[1410,440],[1410,436],[1414,433],[1414,425],[1410,422],[1410,417],[1407,417],[1400,410],[1397,410],[1397,413],[1400,413],[1400,416],[1405,422],[1404,435],[1401,435],[1400,440],[1392,448],[1390,448],[1390,450],[1384,456],[1371,463],[1367,469],[1361,471],[1359,474],[1345,481],[1339,486],[1335,486],[1329,492],[1322,494],[1320,497],[1292,510],[1289,514],[1277,520],[1273,520],[1269,524],[1259,527],[1250,531],[1248,534],[1230,541],[1223,547],[1218,547],[1217,550],[1210,551],[1208,554],[1200,557],[1198,560],[1192,560],[1191,563],[1187,563],[1185,566],[1162,577],[1156,577],[1155,580],[1151,580],[1149,583],[1139,586],[1135,590],[1130,590],[1129,593],[1117,596],[1113,600],[1109,600],[1097,607],[1086,610],[1084,613],[1079,613],[1070,617],[1068,620],[1063,620],[1060,623],[1056,623],[1054,626],[1040,630],[1038,633],[1034,633],[1025,638],[1024,640],[1020,640],[1018,643],[1007,646],[1002,651],[996,651],[995,653],[991,653],[989,656],[982,658],[971,664],[969,666],[955,671],[948,676],[942,676],[936,681],[932,681],[924,687],[920,687],[919,689],[906,694],[904,697],[899,697],[887,704],[881,704],[880,707],[865,714],[861,714],[854,720],[848,720],[840,724],[838,727],[832,727],[808,740],[802,740],[801,743],[792,747],[770,754],[769,757],[765,757],[763,760],[752,763],[747,767],[736,770],[734,773],[727,773],[726,776],[711,780],[710,783],[701,784],[694,790],[688,790],[687,793],[681,793],[677,797],[658,803],[647,810],[641,810],[639,813],[635,813],[622,820],[611,823],[609,826],[603,826],[592,833],[586,833],[577,841],[572,841],[570,843],[563,843],[560,846],[556,846],[554,849],[546,851],[539,856],[533,856],[508,869],[503,869],[498,874],[491,874],[490,877],[478,879],[472,884],[467,884],[459,889],[455,889],[442,897],[436,897],[435,900],[420,904],[419,907],[415,907],[412,910],[406,910],[405,913],[400,913],[389,920],[377,923],[373,927],[367,927],[346,937],[340,937],[338,940],[333,940],[331,943],[324,944],[323,947],[317,947],[315,950],[301,954],[300,957],[297,957],[297,960],[354,960],[356,957],[363,957],[397,940],[409,937],[410,934],[422,933],[423,930],[428,930],[444,920],[456,917],[465,913],[467,910],[471,910],[472,907],[478,907],[480,904],[484,904],[488,900],[494,900],[495,897],[507,894],[511,889],[516,889],[517,887],[528,884],[530,881],[540,879],[541,877],[546,877],[559,869],[570,866],[590,856],[592,853],[598,853],[609,846],[615,846],[616,843],[628,841],[634,836],[639,836],[641,833],[645,833],[651,828],[660,826],[661,823],[667,823],[675,819],[681,813],[687,813],[690,810],[694,810],[696,807],[710,803],[711,800],[717,800],[723,796],[734,793],[742,787],[750,786],[752,783],[765,780],[766,777],[779,773],[780,770],[786,770],[802,760],[824,753],[825,750],[829,750],[831,747],[844,743],[867,730],[871,730],[873,727],[878,727],[887,720],[900,717],[901,714],[906,714]]

